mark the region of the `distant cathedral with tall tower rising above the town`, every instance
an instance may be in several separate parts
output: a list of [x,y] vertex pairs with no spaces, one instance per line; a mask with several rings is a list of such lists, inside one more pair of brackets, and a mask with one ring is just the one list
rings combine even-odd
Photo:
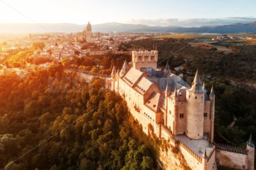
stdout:
[[88,22],[87,26],[84,27],[84,30],[80,33],[77,33],[75,36],[75,41],[76,42],[95,42],[100,40],[99,33],[93,34],[92,33],[92,25],[90,22]]

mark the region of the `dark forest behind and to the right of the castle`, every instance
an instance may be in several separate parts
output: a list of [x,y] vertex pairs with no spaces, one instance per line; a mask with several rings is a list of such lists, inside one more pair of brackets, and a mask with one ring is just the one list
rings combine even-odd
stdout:
[[[184,80],[189,84],[198,68],[208,93],[214,85],[215,141],[245,147],[250,133],[256,139],[256,89],[244,83],[256,81],[255,47],[244,45],[236,47],[236,52],[232,54],[225,54],[214,48],[191,47],[191,41],[186,38],[136,40],[122,43],[119,49],[152,50],[157,47],[159,67],[165,66],[168,61],[172,72],[183,73]],[[176,72],[174,68],[180,65],[185,69]],[[234,85],[230,79],[239,83]],[[230,126],[234,120],[234,125]]]

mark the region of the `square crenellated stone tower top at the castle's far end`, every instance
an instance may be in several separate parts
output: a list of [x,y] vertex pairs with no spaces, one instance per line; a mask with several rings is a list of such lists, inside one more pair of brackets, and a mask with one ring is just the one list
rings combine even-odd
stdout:
[[156,50],[140,50],[132,51],[132,66],[137,70],[141,67],[157,68],[158,51]]

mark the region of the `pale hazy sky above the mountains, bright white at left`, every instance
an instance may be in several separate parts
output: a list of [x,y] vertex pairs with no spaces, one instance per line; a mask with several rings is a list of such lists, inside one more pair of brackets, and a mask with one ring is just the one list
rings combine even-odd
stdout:
[[140,24],[140,20],[256,17],[255,6],[256,0],[0,0],[0,23]]

